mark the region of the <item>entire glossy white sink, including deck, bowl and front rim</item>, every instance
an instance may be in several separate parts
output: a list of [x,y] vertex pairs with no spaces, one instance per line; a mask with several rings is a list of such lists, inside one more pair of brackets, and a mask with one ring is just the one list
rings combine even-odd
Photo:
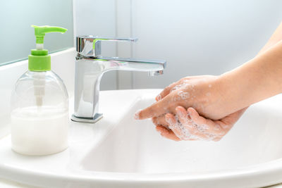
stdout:
[[0,177],[40,187],[264,187],[282,182],[282,96],[251,106],[220,142],[173,142],[135,111],[159,89],[101,92],[104,118],[71,123],[69,148],[20,156],[0,140]]

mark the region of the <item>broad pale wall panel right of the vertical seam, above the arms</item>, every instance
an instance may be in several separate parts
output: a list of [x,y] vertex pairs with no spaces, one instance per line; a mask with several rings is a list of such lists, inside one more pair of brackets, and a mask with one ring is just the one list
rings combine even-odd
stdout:
[[282,22],[282,1],[133,1],[136,58],[164,58],[163,76],[133,73],[134,88],[218,75],[253,58]]

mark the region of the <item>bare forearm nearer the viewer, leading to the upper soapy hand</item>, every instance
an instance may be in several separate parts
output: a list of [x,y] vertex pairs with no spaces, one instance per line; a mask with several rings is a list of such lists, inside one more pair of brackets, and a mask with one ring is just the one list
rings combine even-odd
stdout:
[[[282,92],[282,41],[251,61],[221,75],[230,113]],[[230,105],[231,104],[231,105]]]

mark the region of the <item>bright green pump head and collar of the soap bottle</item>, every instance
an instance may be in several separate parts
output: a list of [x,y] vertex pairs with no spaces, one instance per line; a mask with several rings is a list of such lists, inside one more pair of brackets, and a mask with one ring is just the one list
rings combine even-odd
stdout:
[[31,50],[31,55],[28,56],[28,70],[31,71],[47,71],[51,70],[51,56],[48,55],[48,50],[43,49],[45,33],[48,32],[61,32],[64,33],[67,29],[63,27],[54,27],[49,25],[36,26],[36,49]]

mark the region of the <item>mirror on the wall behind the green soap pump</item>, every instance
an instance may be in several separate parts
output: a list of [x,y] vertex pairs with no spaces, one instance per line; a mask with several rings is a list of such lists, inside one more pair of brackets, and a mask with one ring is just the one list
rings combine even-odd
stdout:
[[49,54],[73,47],[73,1],[10,0],[0,2],[0,65],[27,59],[35,49],[34,28],[30,25],[65,27],[65,34],[44,37]]

